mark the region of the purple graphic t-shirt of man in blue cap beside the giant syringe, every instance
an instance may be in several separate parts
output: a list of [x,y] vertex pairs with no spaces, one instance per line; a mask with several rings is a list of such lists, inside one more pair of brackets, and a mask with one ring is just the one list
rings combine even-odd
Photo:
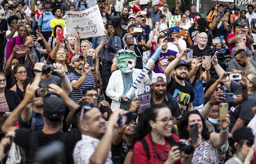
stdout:
[[155,62],[155,73],[164,73],[165,68],[167,67],[168,57],[175,56],[178,52],[173,50],[168,50],[166,53],[160,53],[157,61]]

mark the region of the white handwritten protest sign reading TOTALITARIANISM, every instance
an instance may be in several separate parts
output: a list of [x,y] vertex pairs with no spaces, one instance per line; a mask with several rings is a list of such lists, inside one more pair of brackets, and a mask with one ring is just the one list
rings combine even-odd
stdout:
[[66,11],[68,39],[75,38],[78,28],[81,39],[104,35],[103,20],[98,5],[82,11]]

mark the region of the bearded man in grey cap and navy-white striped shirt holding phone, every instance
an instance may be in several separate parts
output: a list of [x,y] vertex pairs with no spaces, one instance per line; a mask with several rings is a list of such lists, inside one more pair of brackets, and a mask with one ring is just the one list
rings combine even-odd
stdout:
[[71,66],[75,69],[74,72],[68,74],[69,81],[73,88],[70,93],[70,98],[77,102],[83,97],[83,90],[85,87],[93,86],[94,78],[91,73],[91,66],[88,63],[85,64],[83,55],[75,55],[71,59]]

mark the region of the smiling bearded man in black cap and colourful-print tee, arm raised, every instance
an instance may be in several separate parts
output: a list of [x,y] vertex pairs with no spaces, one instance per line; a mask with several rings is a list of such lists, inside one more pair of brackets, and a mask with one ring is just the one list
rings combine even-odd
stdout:
[[[184,114],[187,111],[193,111],[193,100],[195,97],[193,87],[191,84],[185,81],[187,74],[188,74],[188,68],[190,67],[186,63],[186,53],[188,49],[185,49],[180,53],[178,57],[175,58],[165,69],[164,74],[167,78],[167,90],[170,92],[170,94],[173,97],[176,97],[177,94],[180,95],[180,102],[179,106],[182,110],[182,114]],[[175,74],[175,78],[171,77],[171,72],[173,70],[173,73]],[[186,98],[185,98],[186,97]],[[187,99],[186,104],[182,104],[181,102],[184,101],[184,99]]]

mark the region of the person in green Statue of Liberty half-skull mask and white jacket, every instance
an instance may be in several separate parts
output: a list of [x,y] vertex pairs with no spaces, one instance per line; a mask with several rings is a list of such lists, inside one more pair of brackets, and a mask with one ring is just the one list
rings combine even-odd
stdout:
[[109,79],[109,83],[106,89],[106,94],[112,99],[111,109],[115,111],[116,109],[124,109],[135,112],[136,109],[130,109],[132,100],[136,99],[135,96],[144,93],[144,83],[151,84],[151,76],[154,74],[152,71],[154,64],[151,64],[148,74],[141,80],[141,83],[137,86],[135,94],[128,99],[125,94],[131,88],[133,82],[141,73],[141,69],[134,68],[136,65],[136,57],[138,57],[132,50],[119,50],[117,51],[117,67],[112,73]]

